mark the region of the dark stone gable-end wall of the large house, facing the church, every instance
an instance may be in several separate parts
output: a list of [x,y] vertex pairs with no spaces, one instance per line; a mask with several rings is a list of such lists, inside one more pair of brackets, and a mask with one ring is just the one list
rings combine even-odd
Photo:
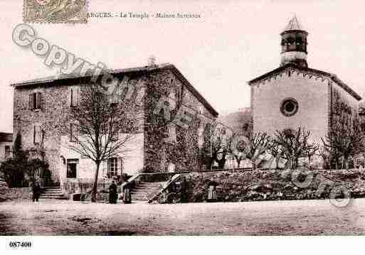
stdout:
[[[182,104],[193,109],[195,116],[188,129],[166,121],[163,111],[159,116],[153,113],[160,97],[171,97],[172,89],[181,89],[183,83],[169,70],[154,72],[149,75],[148,96],[145,102],[147,115],[144,130],[144,166],[150,172],[166,172],[169,164],[174,164],[175,171],[197,170],[201,167],[199,146],[203,136],[201,126],[213,119],[206,107],[184,87]],[[180,90],[181,91],[181,90]],[[203,114],[204,117],[199,117]],[[174,112],[171,112],[174,116]],[[176,141],[169,141],[168,125],[176,131]]]

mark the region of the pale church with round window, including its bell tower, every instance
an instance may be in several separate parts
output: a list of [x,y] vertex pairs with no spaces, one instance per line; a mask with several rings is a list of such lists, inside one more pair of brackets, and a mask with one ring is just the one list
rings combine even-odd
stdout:
[[280,67],[248,82],[253,131],[273,135],[301,126],[322,144],[336,121],[354,126],[361,97],[337,75],[308,67],[308,33],[296,17],[280,36]]

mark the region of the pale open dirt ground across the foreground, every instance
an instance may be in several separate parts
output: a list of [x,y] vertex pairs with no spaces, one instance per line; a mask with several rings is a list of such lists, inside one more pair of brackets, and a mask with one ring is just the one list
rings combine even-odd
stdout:
[[0,235],[365,234],[365,199],[175,205],[42,200],[0,204]]

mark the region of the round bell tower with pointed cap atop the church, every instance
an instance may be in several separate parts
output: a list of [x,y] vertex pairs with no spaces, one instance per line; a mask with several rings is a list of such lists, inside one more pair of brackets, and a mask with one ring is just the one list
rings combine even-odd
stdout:
[[300,25],[294,16],[281,36],[281,64],[295,63],[300,67],[308,67],[307,64],[307,36],[308,33]]

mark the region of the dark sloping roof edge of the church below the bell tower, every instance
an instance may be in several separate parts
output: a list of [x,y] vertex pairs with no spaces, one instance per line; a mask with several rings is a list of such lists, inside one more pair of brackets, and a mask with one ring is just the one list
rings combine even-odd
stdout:
[[354,97],[358,101],[362,99],[359,94],[357,94],[353,89],[351,89],[351,87],[349,87],[346,83],[342,82],[342,80],[340,80],[339,77],[337,77],[337,75],[332,74],[330,72],[324,72],[324,71],[316,70],[316,69],[312,69],[312,68],[300,67],[298,65],[295,65],[294,63],[287,63],[286,65],[282,65],[281,67],[278,67],[270,72],[267,72],[264,75],[260,75],[259,77],[256,77],[255,79],[250,80],[248,82],[248,85],[252,85],[253,82],[265,80],[266,78],[271,77],[271,76],[277,74],[278,72],[281,72],[282,70],[285,70],[287,67],[292,67],[292,68],[295,68],[297,70],[301,70],[304,72],[312,72],[314,75],[321,75],[324,77],[329,77],[333,82],[336,82],[337,85],[339,85],[339,87],[342,87],[342,89],[344,89],[349,94],[351,94],[352,97]]

